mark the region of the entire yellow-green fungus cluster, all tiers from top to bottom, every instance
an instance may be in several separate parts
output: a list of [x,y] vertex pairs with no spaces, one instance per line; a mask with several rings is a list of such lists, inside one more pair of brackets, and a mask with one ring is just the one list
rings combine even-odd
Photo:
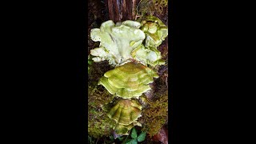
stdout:
[[90,50],[92,60],[107,60],[114,66],[100,78],[98,85],[120,97],[107,114],[116,122],[117,134],[127,135],[134,126],[142,126],[137,122],[142,116],[138,98],[150,90],[149,84],[158,78],[158,73],[148,66],[165,64],[158,46],[167,35],[167,27],[152,16],[142,22],[128,20],[114,24],[109,20],[99,29],[91,30],[91,39],[100,42],[99,47]]

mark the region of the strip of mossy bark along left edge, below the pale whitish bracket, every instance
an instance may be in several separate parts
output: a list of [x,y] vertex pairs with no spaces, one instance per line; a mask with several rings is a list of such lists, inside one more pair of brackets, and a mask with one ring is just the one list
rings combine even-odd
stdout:
[[106,115],[102,108],[110,103],[114,95],[103,86],[98,86],[98,79],[110,70],[107,62],[94,62],[90,66],[88,78],[88,134],[94,138],[109,136],[115,122]]

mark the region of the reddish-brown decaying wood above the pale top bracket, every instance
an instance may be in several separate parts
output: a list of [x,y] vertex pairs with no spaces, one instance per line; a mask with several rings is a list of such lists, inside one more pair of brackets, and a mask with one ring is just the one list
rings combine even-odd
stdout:
[[107,0],[110,19],[114,22],[134,20],[139,0]]

